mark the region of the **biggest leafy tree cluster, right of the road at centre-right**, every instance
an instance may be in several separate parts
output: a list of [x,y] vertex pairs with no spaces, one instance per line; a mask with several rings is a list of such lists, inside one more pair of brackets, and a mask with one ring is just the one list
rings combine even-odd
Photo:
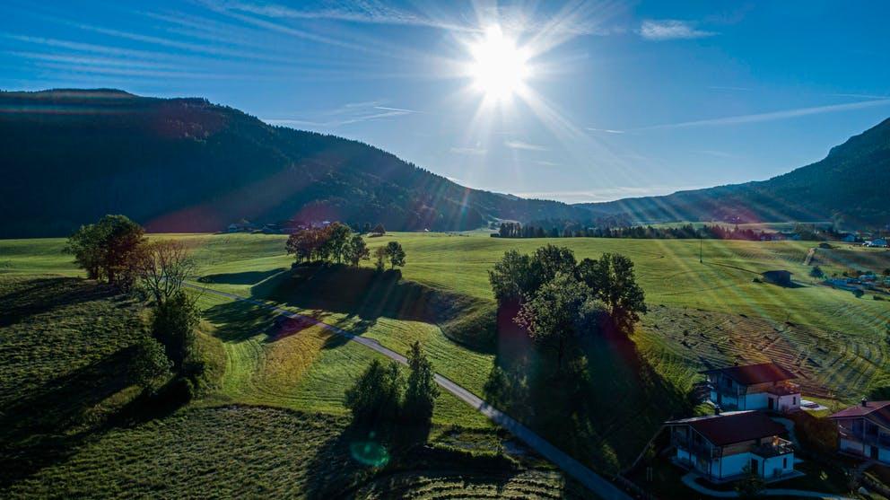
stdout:
[[572,250],[555,245],[531,255],[509,250],[488,276],[499,306],[519,305],[514,321],[554,349],[559,370],[572,338],[595,331],[604,320],[629,331],[646,312],[633,261],[616,253],[578,262]]

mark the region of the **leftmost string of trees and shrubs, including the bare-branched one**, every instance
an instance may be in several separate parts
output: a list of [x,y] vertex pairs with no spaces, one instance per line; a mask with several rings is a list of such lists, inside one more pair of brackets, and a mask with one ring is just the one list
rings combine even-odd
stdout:
[[151,335],[135,346],[131,364],[135,382],[153,391],[178,374],[191,385],[202,371],[194,353],[200,314],[182,284],[194,271],[194,261],[181,242],[148,241],[144,234],[125,215],[105,215],[74,232],[65,252],[74,255],[90,279],[122,291],[141,286],[153,298]]

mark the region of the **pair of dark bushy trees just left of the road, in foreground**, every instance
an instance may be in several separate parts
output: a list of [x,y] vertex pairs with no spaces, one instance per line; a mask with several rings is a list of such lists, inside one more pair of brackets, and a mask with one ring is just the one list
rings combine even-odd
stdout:
[[429,424],[439,397],[435,372],[419,342],[411,345],[407,358],[407,378],[395,361],[383,364],[375,359],[346,390],[345,405],[357,424]]

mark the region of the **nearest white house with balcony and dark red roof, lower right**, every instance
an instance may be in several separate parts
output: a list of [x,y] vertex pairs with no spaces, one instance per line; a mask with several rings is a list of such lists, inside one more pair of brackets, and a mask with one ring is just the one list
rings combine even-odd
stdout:
[[780,437],[783,425],[759,411],[734,411],[665,423],[673,461],[720,483],[756,473],[767,480],[798,476],[794,447]]

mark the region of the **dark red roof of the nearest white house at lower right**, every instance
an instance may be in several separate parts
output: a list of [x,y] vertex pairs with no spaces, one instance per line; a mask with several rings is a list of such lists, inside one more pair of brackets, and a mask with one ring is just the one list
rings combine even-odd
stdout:
[[728,411],[720,415],[672,420],[667,425],[689,425],[717,446],[784,434],[785,426],[759,411]]

